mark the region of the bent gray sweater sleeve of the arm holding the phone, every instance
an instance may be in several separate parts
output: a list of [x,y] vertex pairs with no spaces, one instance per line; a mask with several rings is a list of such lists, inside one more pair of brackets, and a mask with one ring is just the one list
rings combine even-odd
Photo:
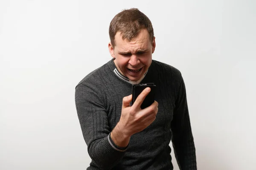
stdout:
[[76,110],[91,166],[109,170],[123,157],[126,148],[116,146],[111,139],[108,113],[103,96],[95,86],[79,84],[75,93]]

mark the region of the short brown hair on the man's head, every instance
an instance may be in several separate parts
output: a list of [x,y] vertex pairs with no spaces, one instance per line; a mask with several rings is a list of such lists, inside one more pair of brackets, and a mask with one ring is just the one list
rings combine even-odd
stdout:
[[148,31],[149,38],[152,42],[154,38],[154,30],[151,21],[145,14],[137,8],[126,9],[119,12],[112,19],[109,26],[109,37],[112,47],[114,48],[116,45],[114,40],[118,31],[121,32],[123,40],[131,41],[131,39],[136,37],[142,29]]

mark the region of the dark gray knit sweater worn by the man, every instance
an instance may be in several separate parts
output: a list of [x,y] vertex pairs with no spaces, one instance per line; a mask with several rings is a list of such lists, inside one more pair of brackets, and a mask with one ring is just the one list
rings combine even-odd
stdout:
[[113,59],[76,86],[76,109],[88,153],[87,170],[172,170],[172,139],[181,170],[196,170],[196,156],[183,78],[176,68],[152,60],[141,83],[154,82],[159,103],[155,121],[131,136],[128,147],[116,146],[110,133],[120,119],[122,98],[131,84],[114,73]]

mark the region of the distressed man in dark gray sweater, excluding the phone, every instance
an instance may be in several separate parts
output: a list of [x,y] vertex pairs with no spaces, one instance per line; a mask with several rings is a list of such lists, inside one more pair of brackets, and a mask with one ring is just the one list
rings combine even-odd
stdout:
[[[151,21],[136,8],[117,14],[109,27],[113,59],[76,86],[76,109],[88,153],[87,170],[196,170],[185,85],[176,68],[152,60]],[[132,84],[153,82],[155,102],[141,109],[146,88],[130,106]]]

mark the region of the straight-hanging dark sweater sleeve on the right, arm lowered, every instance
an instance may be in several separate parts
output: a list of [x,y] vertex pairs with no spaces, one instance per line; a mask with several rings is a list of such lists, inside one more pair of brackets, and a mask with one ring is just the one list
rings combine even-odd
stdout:
[[186,88],[181,77],[171,123],[172,144],[180,170],[197,170],[195,144],[189,120]]

